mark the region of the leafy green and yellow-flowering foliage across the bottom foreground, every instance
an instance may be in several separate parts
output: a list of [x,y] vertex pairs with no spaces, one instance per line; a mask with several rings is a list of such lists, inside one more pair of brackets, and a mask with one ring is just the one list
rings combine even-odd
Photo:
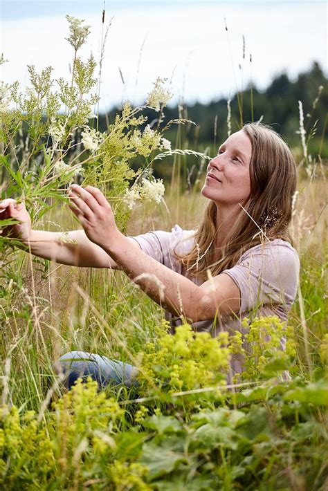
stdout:
[[8,490],[91,483],[112,490],[252,490],[255,479],[261,489],[295,481],[323,489],[327,433],[316,414],[327,405],[327,389],[322,381],[262,383],[226,393],[224,407],[194,408],[186,416],[176,406],[172,415],[155,409],[145,417],[140,406],[140,427],[126,405],[79,380],[44,416],[1,408],[0,483]]

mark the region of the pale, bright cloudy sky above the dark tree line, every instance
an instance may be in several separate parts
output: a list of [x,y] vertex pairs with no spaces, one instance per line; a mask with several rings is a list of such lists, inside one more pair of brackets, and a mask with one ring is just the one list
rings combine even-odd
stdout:
[[73,48],[65,40],[66,14],[91,26],[82,59],[92,53],[99,61],[110,24],[102,111],[123,100],[143,104],[156,77],[167,78],[172,102],[192,104],[231,97],[250,80],[265,89],[273,77],[286,71],[293,79],[313,61],[327,74],[325,1],[0,0],[0,54],[9,60],[0,79],[19,80],[24,89],[28,64],[37,71],[53,66],[54,78],[69,79]]

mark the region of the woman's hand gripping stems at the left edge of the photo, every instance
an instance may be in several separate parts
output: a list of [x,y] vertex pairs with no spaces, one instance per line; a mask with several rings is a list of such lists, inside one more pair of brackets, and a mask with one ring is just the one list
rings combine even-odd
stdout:
[[17,203],[15,199],[7,198],[0,201],[0,220],[15,219],[19,223],[0,228],[2,237],[12,237],[27,243],[32,232],[30,215],[24,203]]

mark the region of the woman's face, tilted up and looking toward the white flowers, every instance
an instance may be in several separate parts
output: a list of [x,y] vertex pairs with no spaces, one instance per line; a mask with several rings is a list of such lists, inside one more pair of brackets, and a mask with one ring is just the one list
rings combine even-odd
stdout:
[[207,167],[201,194],[217,205],[244,205],[250,196],[250,158],[252,145],[244,131],[237,131],[221,145]]

